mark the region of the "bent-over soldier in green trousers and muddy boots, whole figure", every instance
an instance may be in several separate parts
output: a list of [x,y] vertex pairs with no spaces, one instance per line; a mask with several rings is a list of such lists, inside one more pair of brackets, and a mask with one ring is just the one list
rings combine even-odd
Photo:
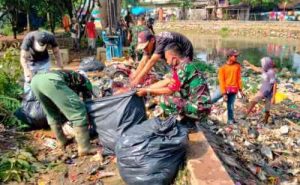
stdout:
[[90,144],[86,108],[79,97],[80,93],[84,99],[92,97],[91,82],[84,75],[62,70],[40,72],[33,77],[31,88],[43,107],[59,147],[67,145],[62,131],[62,113],[73,123],[79,156],[97,152]]

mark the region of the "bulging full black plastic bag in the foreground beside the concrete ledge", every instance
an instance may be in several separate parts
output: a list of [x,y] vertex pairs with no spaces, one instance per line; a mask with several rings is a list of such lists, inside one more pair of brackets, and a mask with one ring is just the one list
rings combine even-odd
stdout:
[[120,174],[128,185],[168,185],[185,159],[188,130],[176,123],[147,120],[126,131],[116,145]]

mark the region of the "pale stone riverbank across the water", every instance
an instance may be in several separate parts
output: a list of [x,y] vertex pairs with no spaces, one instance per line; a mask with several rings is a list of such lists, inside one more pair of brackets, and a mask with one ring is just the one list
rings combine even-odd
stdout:
[[275,37],[300,39],[299,22],[271,21],[170,21],[156,22],[157,32],[180,31],[207,35],[238,36],[238,37]]

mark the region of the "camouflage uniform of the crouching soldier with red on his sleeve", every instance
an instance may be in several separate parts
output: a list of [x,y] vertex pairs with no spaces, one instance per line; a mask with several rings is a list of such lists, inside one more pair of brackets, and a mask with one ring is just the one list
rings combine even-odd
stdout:
[[180,89],[171,96],[163,96],[160,104],[167,115],[180,114],[199,121],[207,118],[211,100],[200,66],[200,61],[185,61],[176,67]]

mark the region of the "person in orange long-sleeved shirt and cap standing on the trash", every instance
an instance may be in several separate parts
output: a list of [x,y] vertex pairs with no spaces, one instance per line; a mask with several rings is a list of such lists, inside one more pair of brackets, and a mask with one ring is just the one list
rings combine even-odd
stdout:
[[230,50],[227,53],[227,61],[219,69],[219,88],[212,97],[212,102],[217,102],[221,97],[227,102],[227,123],[236,123],[234,120],[234,102],[238,92],[244,96],[242,91],[241,65],[237,61],[239,53]]

